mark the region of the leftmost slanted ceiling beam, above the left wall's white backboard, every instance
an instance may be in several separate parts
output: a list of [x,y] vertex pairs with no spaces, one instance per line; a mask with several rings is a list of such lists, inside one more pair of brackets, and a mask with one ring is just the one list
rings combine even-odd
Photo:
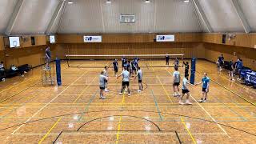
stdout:
[[16,19],[18,18],[18,13],[19,13],[20,10],[21,10],[23,1],[24,1],[24,0],[18,0],[18,1],[16,2],[16,5],[15,5],[15,7],[14,7],[14,11],[13,11],[13,13],[11,14],[11,17],[10,17],[9,22],[8,22],[8,24],[7,24],[7,27],[6,27],[6,32],[5,32],[5,34],[6,34],[7,36],[10,36],[11,31],[13,30],[14,23],[15,23]]

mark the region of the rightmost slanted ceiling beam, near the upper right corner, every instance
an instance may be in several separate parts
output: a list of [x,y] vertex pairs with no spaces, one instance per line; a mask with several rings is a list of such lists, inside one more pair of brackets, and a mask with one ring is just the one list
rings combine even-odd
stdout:
[[245,15],[242,12],[242,8],[238,3],[238,0],[232,0],[234,9],[236,10],[238,14],[238,18],[240,19],[240,22],[242,23],[242,27],[245,30],[245,32],[248,34],[250,33],[250,25],[248,24]]

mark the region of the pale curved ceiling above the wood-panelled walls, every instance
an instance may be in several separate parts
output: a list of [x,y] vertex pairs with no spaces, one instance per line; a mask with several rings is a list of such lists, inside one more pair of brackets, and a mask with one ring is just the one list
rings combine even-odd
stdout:
[[[1,0],[0,33],[243,33],[246,23],[250,32],[256,31],[255,0],[72,1],[73,4],[67,0]],[[120,14],[134,14],[136,22],[120,23]]]

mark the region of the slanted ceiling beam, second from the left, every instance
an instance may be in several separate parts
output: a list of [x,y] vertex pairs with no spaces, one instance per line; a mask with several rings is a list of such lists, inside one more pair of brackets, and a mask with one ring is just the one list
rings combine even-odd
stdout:
[[47,26],[45,34],[50,34],[51,33],[51,30],[53,29],[55,23],[57,22],[58,15],[61,14],[62,8],[65,6],[65,2],[66,2],[66,0],[63,0],[62,2],[58,3],[58,6],[56,7],[56,9],[54,11],[54,15],[50,19],[50,23]]

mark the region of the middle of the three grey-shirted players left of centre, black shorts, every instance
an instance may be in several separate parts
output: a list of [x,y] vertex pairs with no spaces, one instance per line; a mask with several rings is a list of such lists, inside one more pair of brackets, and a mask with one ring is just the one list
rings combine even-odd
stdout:
[[129,71],[127,71],[127,67],[124,67],[124,70],[122,71],[122,73],[120,75],[118,75],[117,78],[121,77],[122,76],[122,88],[121,88],[121,91],[120,91],[120,95],[123,94],[123,91],[126,89],[127,87],[127,90],[128,90],[128,96],[130,96],[130,73]]

